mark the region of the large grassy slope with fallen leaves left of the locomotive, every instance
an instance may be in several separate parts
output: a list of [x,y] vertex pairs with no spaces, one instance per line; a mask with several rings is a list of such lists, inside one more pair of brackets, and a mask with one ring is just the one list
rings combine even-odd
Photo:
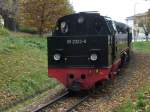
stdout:
[[47,68],[46,38],[0,29],[0,109],[56,87]]

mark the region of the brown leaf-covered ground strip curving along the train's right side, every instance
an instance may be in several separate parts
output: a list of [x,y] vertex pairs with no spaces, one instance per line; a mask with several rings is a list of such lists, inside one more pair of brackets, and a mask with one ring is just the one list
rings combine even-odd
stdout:
[[116,79],[101,94],[90,98],[77,111],[111,112],[129,99],[146,81],[150,81],[150,55],[134,53],[129,65],[122,68]]

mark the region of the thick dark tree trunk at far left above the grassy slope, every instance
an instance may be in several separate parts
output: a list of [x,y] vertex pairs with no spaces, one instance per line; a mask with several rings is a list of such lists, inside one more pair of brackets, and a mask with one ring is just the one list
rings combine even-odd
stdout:
[[10,18],[8,16],[4,16],[4,27],[11,30],[17,31],[17,23],[14,18]]

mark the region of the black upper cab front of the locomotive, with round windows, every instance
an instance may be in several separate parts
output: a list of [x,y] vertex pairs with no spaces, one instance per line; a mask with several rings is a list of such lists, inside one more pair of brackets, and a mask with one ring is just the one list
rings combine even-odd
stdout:
[[77,13],[57,21],[53,36],[88,36],[109,34],[104,17],[98,13]]

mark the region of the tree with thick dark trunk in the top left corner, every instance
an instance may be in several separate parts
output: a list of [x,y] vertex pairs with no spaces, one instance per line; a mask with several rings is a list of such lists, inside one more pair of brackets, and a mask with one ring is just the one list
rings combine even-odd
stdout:
[[16,15],[18,12],[17,0],[0,0],[0,15],[4,19],[4,27],[9,30],[16,31]]

